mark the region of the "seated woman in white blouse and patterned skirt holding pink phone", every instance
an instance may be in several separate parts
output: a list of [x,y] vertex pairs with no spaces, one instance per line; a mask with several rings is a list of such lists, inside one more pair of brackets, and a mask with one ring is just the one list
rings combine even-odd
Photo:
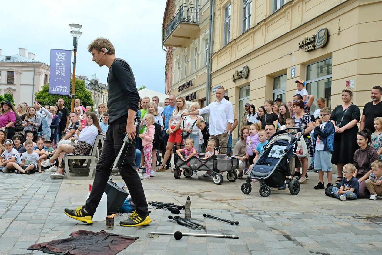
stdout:
[[81,123],[78,127],[75,138],[76,143],[74,144],[63,144],[58,146],[52,152],[46,152],[47,156],[50,157],[49,160],[46,160],[41,163],[41,166],[48,167],[55,164],[55,160],[58,158],[58,171],[50,175],[51,179],[63,179],[64,175],[64,154],[73,153],[73,154],[89,154],[94,144],[95,138],[99,133],[101,133],[101,128],[97,119],[97,115],[93,112],[88,112],[86,117],[87,126]]

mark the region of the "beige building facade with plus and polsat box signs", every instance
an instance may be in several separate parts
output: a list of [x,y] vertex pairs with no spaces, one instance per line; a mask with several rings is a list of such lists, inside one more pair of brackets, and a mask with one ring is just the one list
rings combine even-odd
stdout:
[[380,0],[215,3],[211,99],[224,86],[239,116],[246,102],[258,108],[266,99],[291,101],[300,79],[332,109],[350,86],[362,111],[371,88],[381,85]]

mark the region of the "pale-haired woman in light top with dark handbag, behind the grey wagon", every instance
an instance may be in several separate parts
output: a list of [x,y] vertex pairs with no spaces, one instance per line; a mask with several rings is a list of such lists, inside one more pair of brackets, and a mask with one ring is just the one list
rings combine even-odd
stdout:
[[[193,102],[193,104],[190,106],[190,109],[191,112],[200,109],[200,104],[198,102]],[[186,138],[191,138],[194,140],[194,148],[200,154],[200,146],[203,143],[203,135],[202,131],[196,126],[197,120],[204,121],[204,118],[201,115],[187,115],[183,122],[180,124],[180,129],[182,130],[183,140],[186,140]]]

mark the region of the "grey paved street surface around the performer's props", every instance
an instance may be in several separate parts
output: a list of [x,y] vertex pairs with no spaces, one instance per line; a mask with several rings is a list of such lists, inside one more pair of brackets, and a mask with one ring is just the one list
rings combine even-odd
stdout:
[[[288,190],[272,189],[268,198],[259,195],[259,184],[244,195],[236,182],[215,185],[196,176],[174,179],[170,171],[142,181],[147,201],[185,204],[191,197],[192,218],[207,226],[192,230],[168,219],[168,211],[151,210],[153,222],[145,227],[121,227],[116,234],[139,237],[119,254],[378,254],[382,253],[382,198],[340,201],[313,190],[318,175],[309,172],[308,184],[291,196]],[[44,174],[0,173],[0,254],[44,254],[27,250],[29,245],[69,237],[81,229],[100,231],[105,222],[92,226],[63,214],[86,200],[92,181],[52,180]],[[325,184],[326,185],[326,184]],[[183,211],[182,211],[183,213]],[[239,221],[238,226],[203,218],[203,213]],[[175,216],[175,214],[172,214]],[[172,236],[147,237],[149,232],[182,231],[238,235],[239,239]]]

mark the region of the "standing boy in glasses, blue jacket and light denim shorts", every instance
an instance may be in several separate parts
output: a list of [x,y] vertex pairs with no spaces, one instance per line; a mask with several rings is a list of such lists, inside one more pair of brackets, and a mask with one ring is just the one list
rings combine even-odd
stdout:
[[320,110],[319,122],[312,122],[314,126],[314,138],[316,139],[316,151],[314,153],[314,169],[318,170],[319,182],[314,187],[315,190],[325,188],[324,172],[328,177],[326,187],[333,186],[332,184],[332,151],[334,143],[334,124],[329,121],[332,116],[332,111],[329,107],[324,107]]

